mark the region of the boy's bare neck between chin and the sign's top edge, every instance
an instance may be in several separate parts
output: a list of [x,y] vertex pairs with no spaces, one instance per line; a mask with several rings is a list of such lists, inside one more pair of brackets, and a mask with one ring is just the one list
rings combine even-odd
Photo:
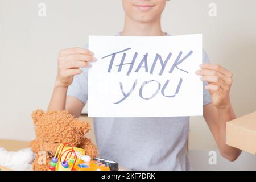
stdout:
[[125,17],[125,26],[121,36],[166,36],[161,29],[161,20],[156,19],[154,22],[136,22]]

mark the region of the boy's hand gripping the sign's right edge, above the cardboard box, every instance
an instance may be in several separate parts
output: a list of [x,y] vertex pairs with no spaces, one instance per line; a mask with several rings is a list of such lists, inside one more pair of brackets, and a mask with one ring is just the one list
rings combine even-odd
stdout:
[[231,106],[229,90],[233,82],[232,72],[218,64],[200,64],[200,68],[196,74],[202,76],[201,81],[209,83],[205,89],[209,89],[213,105],[218,109],[229,109]]

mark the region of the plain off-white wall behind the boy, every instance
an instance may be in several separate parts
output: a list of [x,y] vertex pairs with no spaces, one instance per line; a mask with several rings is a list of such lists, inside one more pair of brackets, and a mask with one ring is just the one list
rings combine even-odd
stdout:
[[[46,17],[38,4],[46,3]],[[208,15],[216,3],[217,17]],[[234,74],[231,90],[237,116],[256,110],[256,1],[171,0],[163,30],[202,33],[210,60]],[[84,46],[88,35],[122,30],[120,0],[0,0],[0,138],[31,140],[32,110],[47,109],[60,49]],[[216,150],[202,117],[191,119],[191,150]]]

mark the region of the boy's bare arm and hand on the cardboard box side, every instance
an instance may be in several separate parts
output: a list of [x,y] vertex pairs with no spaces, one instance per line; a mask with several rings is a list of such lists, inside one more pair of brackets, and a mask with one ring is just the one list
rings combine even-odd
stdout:
[[241,150],[226,145],[226,122],[236,118],[230,102],[230,88],[232,86],[232,73],[217,64],[201,64],[201,70],[196,71],[201,75],[201,81],[207,81],[205,86],[212,98],[212,104],[204,106],[204,118],[213,137],[216,140],[220,154],[233,161],[241,154]]

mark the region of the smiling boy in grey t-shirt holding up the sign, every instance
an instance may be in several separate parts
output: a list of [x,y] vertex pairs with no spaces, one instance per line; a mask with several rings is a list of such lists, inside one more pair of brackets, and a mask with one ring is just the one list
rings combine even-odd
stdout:
[[[168,36],[160,24],[166,0],[122,0],[122,4],[125,25],[119,36]],[[95,61],[95,58],[88,49],[60,51],[48,110],[66,109],[79,117],[89,97],[87,74],[90,61]],[[232,73],[220,65],[209,64],[205,52],[203,63],[196,74],[204,81],[204,118],[221,155],[233,161],[241,150],[225,144],[226,122],[236,118],[229,97]],[[94,118],[94,128],[100,157],[116,160],[123,167],[191,169],[186,150],[189,117]]]

